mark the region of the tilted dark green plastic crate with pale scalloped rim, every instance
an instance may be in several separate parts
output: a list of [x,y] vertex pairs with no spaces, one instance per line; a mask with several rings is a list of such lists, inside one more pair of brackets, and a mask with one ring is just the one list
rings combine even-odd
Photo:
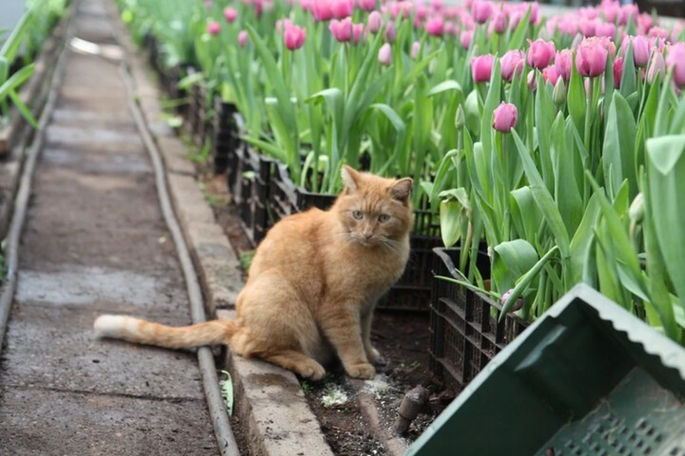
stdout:
[[406,455],[685,456],[685,349],[585,285],[532,323]]

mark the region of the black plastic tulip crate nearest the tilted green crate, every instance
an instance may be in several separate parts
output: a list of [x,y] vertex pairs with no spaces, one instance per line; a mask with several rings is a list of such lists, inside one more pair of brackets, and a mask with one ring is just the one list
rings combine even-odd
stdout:
[[[459,248],[436,248],[433,252],[435,276],[464,279],[455,267]],[[489,277],[490,262],[485,252],[479,252],[476,263],[482,277]],[[512,314],[498,323],[502,313],[499,302],[443,279],[434,278],[432,284],[430,369],[447,385],[460,390],[529,323]]]

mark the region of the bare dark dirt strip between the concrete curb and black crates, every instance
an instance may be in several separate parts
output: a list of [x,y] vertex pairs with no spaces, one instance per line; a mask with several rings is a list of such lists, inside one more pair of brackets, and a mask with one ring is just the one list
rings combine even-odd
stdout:
[[[201,172],[201,182],[205,197],[212,204],[231,244],[239,256],[248,261],[253,246],[243,234],[235,208],[230,204],[225,175]],[[403,436],[407,442],[412,442],[457,393],[445,390],[428,368],[428,314],[377,311],[371,337],[386,361],[385,366],[377,367],[377,378],[372,382],[381,428],[392,428],[397,417],[397,408],[407,391],[422,385],[429,393],[425,409]],[[310,408],[317,416],[328,444],[336,455],[389,454],[377,432],[363,418],[357,400],[359,390],[340,366],[330,370],[322,382],[303,380],[302,386]]]

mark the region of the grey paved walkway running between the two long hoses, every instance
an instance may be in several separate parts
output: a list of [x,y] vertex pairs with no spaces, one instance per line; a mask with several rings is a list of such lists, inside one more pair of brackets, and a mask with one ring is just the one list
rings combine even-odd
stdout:
[[[97,0],[76,36],[112,43]],[[116,65],[68,54],[0,360],[0,455],[216,455],[193,353],[93,336],[98,314],[188,324],[151,164]]]

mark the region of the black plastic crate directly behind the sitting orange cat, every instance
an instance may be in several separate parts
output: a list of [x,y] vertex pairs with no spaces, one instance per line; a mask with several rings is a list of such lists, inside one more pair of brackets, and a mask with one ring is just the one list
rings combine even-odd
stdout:
[[[295,186],[283,164],[275,165],[271,179],[268,222],[269,227],[283,217],[303,212],[310,207],[326,210],[335,202],[335,195],[325,195],[303,190]],[[432,289],[432,251],[442,246],[440,222],[428,207],[414,211],[414,229],[410,237],[411,252],[407,268],[400,280],[378,301],[378,309],[394,311],[428,311]]]

